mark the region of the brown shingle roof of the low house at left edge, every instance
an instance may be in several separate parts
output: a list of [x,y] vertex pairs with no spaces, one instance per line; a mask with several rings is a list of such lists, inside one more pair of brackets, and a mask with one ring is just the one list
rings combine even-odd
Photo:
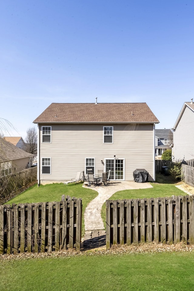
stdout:
[[11,142],[7,142],[5,139],[0,138],[0,162],[12,161],[15,159],[28,158],[32,156],[32,154],[19,149]]

